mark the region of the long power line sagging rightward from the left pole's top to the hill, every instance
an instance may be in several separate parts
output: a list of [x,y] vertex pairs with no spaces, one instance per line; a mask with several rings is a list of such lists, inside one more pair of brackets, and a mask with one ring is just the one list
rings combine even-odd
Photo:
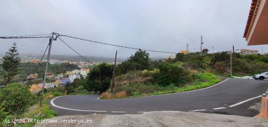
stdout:
[[[59,35],[59,34],[57,34],[57,37],[58,36],[66,36],[66,35]],[[99,44],[105,44],[105,45],[117,46],[117,47],[122,47],[122,48],[128,48],[128,49],[143,50],[143,51],[157,52],[157,53],[177,54],[177,53],[172,53],[172,52],[162,52],[162,51],[154,51],[154,50],[146,50],[146,49],[140,49],[140,48],[120,46],[120,45],[115,45],[115,44],[108,44],[108,43],[103,43],[103,42],[98,42],[98,41],[93,41],[93,40],[88,40],[88,39],[82,39],[82,38],[78,38],[78,37],[73,37],[73,36],[67,36],[67,37],[71,37],[71,38],[75,38],[75,39],[80,39],[80,40],[85,40],[85,41],[90,41],[90,42],[99,43]]]

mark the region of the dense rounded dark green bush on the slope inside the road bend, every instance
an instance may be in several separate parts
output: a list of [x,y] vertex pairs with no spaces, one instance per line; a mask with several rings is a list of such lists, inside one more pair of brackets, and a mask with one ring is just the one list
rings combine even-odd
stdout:
[[155,79],[160,86],[175,84],[182,85],[192,80],[192,75],[182,67],[170,63],[160,63],[158,65],[160,73],[155,75]]

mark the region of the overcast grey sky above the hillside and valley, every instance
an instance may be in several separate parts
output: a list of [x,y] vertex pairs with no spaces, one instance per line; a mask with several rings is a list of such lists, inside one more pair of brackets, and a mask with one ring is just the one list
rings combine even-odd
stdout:
[[[251,0],[0,0],[0,36],[75,36],[127,47],[175,52],[257,49],[243,38]],[[61,37],[82,55],[127,58],[135,50]],[[20,54],[41,54],[48,39],[0,39],[0,54],[13,42]],[[51,54],[76,55],[59,39]],[[152,53],[151,57],[172,54]]]

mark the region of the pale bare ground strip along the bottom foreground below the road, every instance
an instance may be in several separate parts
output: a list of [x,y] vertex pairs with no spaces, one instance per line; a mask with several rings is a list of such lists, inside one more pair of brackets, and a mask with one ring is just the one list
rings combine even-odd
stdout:
[[35,127],[268,127],[266,119],[183,111],[124,115],[90,114],[52,119],[92,120],[92,123],[39,123]]

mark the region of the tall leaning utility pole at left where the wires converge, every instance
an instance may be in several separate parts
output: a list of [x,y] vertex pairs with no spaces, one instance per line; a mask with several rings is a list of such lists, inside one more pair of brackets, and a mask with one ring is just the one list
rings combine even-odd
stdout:
[[49,39],[49,49],[48,49],[48,54],[47,54],[46,70],[45,70],[45,75],[44,75],[43,85],[42,85],[42,93],[41,93],[40,107],[42,106],[42,101],[43,101],[44,85],[46,84],[46,73],[47,73],[47,67],[48,67],[48,63],[49,63],[49,56],[50,56],[50,51],[51,51],[53,36],[54,36],[54,32],[52,32],[52,35],[51,35],[51,37]]

